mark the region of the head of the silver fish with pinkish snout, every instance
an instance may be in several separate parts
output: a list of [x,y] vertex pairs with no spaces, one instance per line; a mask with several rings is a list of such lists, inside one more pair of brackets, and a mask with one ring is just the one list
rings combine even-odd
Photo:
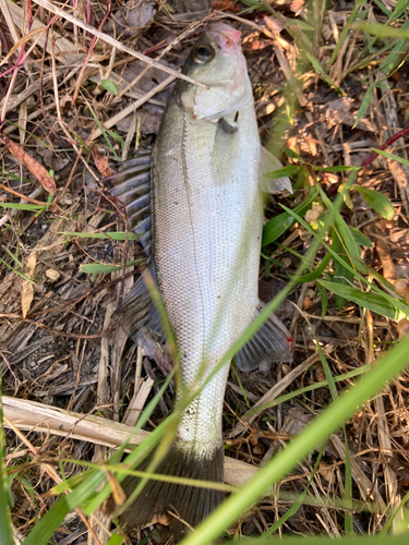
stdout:
[[193,120],[215,120],[239,111],[253,101],[240,31],[214,23],[192,48],[183,73],[207,88],[185,85],[181,102]]

